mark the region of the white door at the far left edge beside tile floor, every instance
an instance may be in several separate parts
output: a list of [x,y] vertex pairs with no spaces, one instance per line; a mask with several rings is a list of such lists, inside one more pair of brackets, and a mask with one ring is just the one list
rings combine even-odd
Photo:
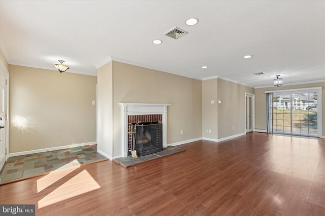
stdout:
[[6,162],[7,92],[6,72],[0,67],[0,169]]

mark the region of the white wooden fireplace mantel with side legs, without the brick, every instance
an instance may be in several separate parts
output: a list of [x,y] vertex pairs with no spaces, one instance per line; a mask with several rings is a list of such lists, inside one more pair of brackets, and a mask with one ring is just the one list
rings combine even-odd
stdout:
[[163,116],[163,147],[167,147],[167,107],[171,104],[120,103],[122,106],[122,156],[127,157],[127,116],[161,114]]

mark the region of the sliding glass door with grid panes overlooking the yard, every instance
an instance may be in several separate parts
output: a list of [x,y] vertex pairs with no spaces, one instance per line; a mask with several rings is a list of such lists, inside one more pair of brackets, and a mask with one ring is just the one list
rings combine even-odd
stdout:
[[320,91],[274,92],[269,113],[273,133],[320,136]]

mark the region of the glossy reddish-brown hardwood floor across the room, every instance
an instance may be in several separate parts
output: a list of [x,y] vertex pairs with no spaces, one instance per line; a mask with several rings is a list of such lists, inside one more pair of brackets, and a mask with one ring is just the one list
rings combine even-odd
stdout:
[[36,215],[325,215],[325,139],[249,133],[127,169],[112,161],[0,187]]

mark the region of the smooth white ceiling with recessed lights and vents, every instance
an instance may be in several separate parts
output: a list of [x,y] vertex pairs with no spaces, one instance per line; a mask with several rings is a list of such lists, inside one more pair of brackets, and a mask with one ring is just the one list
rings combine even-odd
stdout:
[[[189,33],[164,35],[175,26]],[[0,0],[0,45],[9,64],[89,75],[113,59],[250,87],[324,81],[325,1]]]

